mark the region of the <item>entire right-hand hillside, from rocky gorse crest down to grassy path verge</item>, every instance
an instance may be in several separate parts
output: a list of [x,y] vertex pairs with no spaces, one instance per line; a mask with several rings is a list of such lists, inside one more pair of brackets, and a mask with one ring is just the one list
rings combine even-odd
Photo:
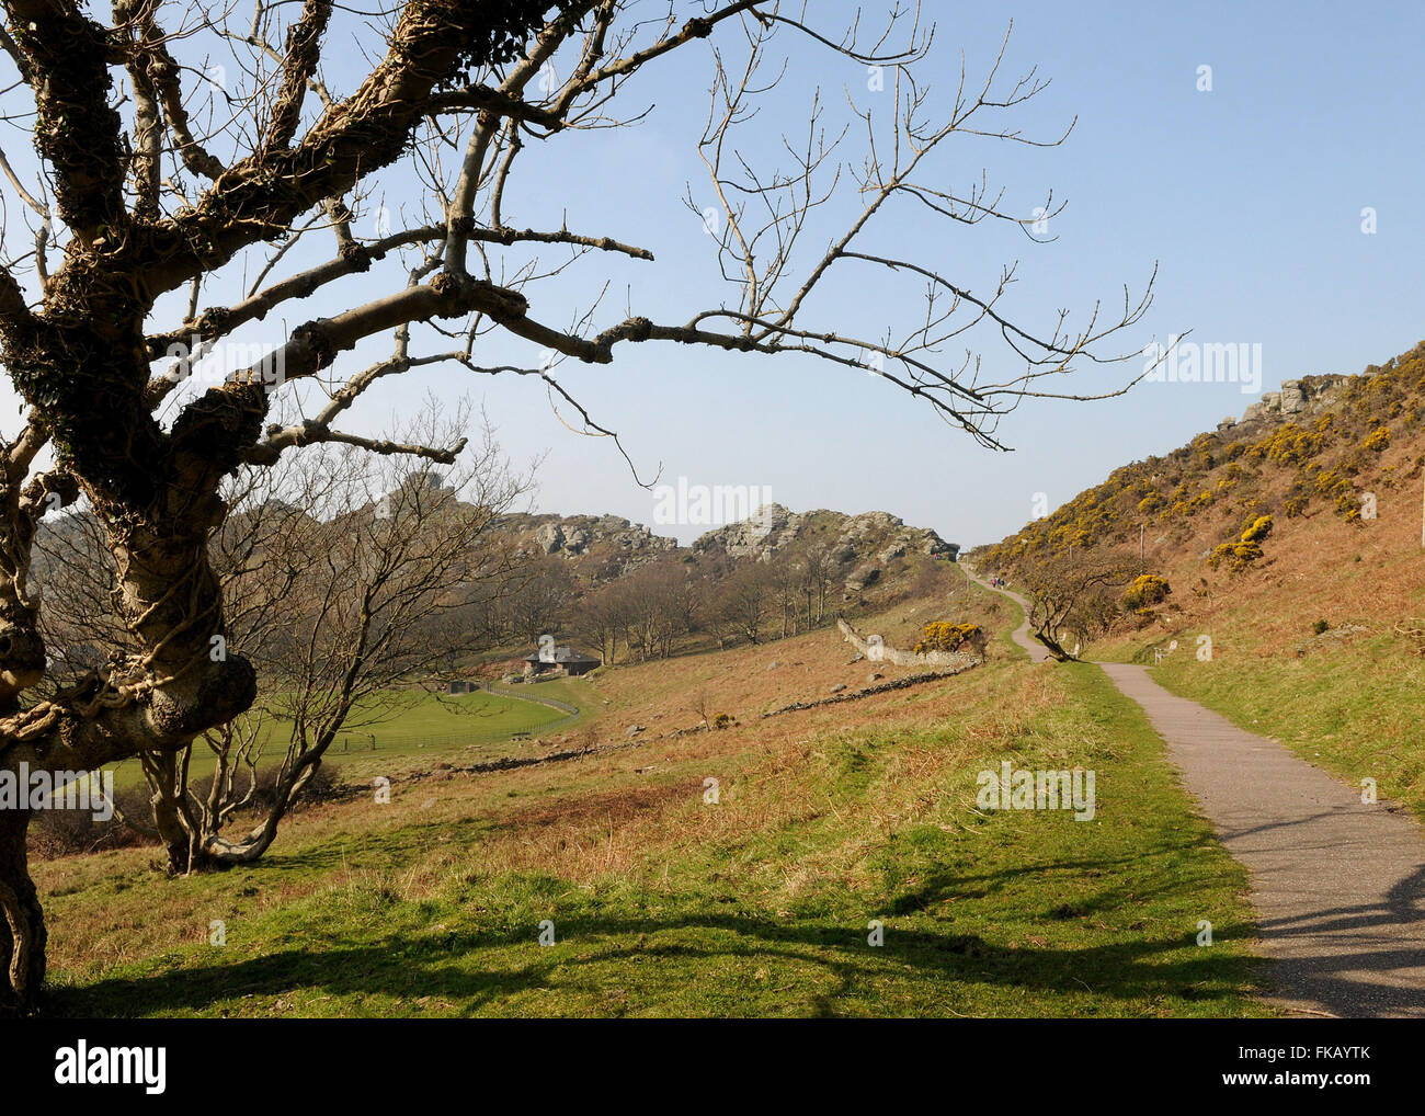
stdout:
[[1302,385],[1114,470],[978,559],[1012,582],[1052,574],[1070,544],[1137,567],[1143,530],[1141,569],[1171,593],[1133,609],[1117,589],[1084,656],[1157,664],[1176,693],[1425,817],[1425,345]]

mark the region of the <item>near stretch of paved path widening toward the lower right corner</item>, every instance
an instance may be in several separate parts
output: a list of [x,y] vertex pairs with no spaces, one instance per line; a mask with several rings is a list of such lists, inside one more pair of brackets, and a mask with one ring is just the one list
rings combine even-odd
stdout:
[[1251,872],[1261,952],[1277,962],[1270,999],[1308,1015],[1425,1018],[1425,834],[1409,812],[1362,804],[1359,788],[1171,694],[1147,667],[1099,666],[1147,713]]

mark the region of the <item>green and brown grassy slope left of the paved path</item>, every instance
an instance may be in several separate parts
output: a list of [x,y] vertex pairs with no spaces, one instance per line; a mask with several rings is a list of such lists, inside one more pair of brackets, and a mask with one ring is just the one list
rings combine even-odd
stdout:
[[[222,874],[38,864],[48,1012],[1268,1013],[1244,874],[1102,671],[1005,656],[758,717],[865,671],[825,631],[621,667],[590,686],[606,738],[636,721],[640,747],[309,808]],[[674,734],[698,690],[737,725]],[[1096,817],[979,810],[1002,760],[1094,770]]]

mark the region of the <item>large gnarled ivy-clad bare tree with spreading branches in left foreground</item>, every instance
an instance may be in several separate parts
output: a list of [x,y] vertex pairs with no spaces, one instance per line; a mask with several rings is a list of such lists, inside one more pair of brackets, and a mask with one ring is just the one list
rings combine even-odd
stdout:
[[[1060,315],[1037,328],[1005,305],[1013,265],[972,294],[968,279],[876,247],[879,227],[898,218],[995,219],[1027,235],[1032,219],[996,192],[946,187],[936,157],[959,137],[1054,145],[1066,134],[1023,133],[1016,110],[1043,83],[1033,73],[1002,81],[1000,60],[983,81],[966,76],[953,103],[932,101],[923,74],[945,68],[915,10],[896,9],[865,38],[862,19],[818,26],[809,7],[777,0],[396,0],[378,17],[331,0],[258,0],[241,23],[234,9],[115,0],[108,24],[77,0],[3,6],[13,74],[0,114],[28,128],[34,147],[33,160],[0,153],[0,359],[28,406],[0,476],[4,771],[177,754],[252,706],[256,671],[244,650],[229,641],[209,657],[212,640],[229,636],[211,554],[228,510],[224,477],[321,442],[450,465],[453,445],[342,429],[386,378],[437,363],[536,376],[576,426],[611,436],[556,379],[561,361],[606,365],[656,342],[795,355],[871,366],[998,446],[999,415],[1050,395],[1045,378],[1077,358],[1114,359],[1113,335],[1147,306],[1147,292],[1137,302],[1124,292],[1113,321],[1092,309],[1073,326]],[[370,68],[336,87],[326,43]],[[876,67],[884,88],[852,95],[844,127],[817,97],[794,144],[777,80],[784,44],[821,51],[858,80]],[[623,105],[638,76],[671,57],[687,60],[690,88],[703,81],[698,58],[711,73],[712,107],[694,137],[708,180],[691,201],[711,197],[721,210],[710,221],[711,275],[728,285],[681,321],[638,312],[646,292],[633,289],[627,311],[610,316],[600,261],[651,264],[653,252],[618,229],[579,228],[579,200],[593,188],[583,165],[547,215],[516,215],[527,195],[520,155],[641,117],[644,105]],[[788,165],[740,157],[737,137],[760,121],[787,137]],[[536,308],[540,279],[580,269],[591,272],[586,299]],[[925,305],[891,332],[817,321],[824,288],[871,271],[926,291]],[[298,325],[286,332],[285,321]],[[980,329],[1007,343],[986,375],[970,342]],[[348,362],[388,335],[388,356]],[[942,365],[946,342],[969,355]],[[1126,348],[1120,356],[1140,346]],[[520,352],[529,359],[510,356]],[[204,372],[209,361],[217,375]],[[275,398],[299,399],[306,418],[271,423]],[[101,649],[104,664],[81,683],[38,698],[46,647],[31,543],[40,516],[81,492],[114,562],[111,606],[127,640]],[[24,810],[0,817],[7,1011],[28,1011],[44,975],[27,822]]]

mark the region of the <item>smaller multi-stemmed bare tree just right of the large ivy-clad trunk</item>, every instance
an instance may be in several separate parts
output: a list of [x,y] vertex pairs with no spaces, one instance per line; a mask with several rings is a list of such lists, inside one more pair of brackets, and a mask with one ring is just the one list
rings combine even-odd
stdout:
[[[437,412],[428,419],[439,422]],[[396,715],[402,696],[423,693],[452,656],[473,650],[462,593],[497,591],[517,574],[520,554],[497,523],[529,482],[489,429],[443,477],[419,458],[379,462],[351,446],[312,446],[276,467],[244,469],[227,486],[232,510],[214,539],[214,569],[228,636],[249,649],[262,691],[187,747],[140,754],[152,818],[124,821],[162,841],[170,871],[258,859],[338,733]],[[105,550],[81,557],[50,563],[64,600],[84,609],[50,610],[73,630],[104,620],[88,611],[100,593],[76,590],[113,582]],[[358,718],[363,698],[376,696],[379,707]],[[244,834],[225,832],[252,807],[259,764],[274,751],[276,781],[261,817]],[[195,754],[212,764],[201,780],[191,777]]]

